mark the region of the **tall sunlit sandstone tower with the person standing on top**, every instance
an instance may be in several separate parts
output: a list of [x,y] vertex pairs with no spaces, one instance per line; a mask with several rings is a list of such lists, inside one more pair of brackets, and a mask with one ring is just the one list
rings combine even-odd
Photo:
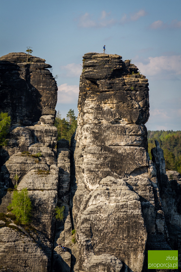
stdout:
[[161,200],[147,153],[148,91],[129,60],[84,55],[74,142],[75,271],[140,272],[150,235],[157,240]]

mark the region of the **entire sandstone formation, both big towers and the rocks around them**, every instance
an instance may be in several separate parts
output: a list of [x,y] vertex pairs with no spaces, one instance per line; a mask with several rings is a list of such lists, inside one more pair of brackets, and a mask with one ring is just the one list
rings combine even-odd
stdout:
[[[57,142],[51,66],[26,61],[0,58],[0,111],[12,120],[1,148],[0,271],[148,271],[148,250],[181,246],[180,176],[166,175],[158,142],[148,155],[148,79],[121,56],[85,54],[69,148]],[[30,226],[7,212],[14,185],[28,189]],[[56,206],[65,207],[61,222]]]

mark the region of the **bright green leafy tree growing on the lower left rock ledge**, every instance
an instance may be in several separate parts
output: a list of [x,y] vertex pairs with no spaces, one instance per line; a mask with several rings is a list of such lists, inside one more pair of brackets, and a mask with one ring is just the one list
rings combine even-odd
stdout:
[[14,191],[13,199],[11,204],[9,204],[8,209],[12,209],[12,214],[14,214],[17,221],[22,224],[30,222],[32,204],[26,188],[21,191]]

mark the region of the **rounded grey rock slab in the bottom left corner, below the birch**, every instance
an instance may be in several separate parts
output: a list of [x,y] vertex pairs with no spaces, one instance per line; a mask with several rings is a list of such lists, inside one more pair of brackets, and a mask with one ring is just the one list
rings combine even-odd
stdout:
[[[11,224],[12,225],[12,224]],[[23,229],[0,228],[0,264],[14,272],[50,271],[51,244],[42,235]]]

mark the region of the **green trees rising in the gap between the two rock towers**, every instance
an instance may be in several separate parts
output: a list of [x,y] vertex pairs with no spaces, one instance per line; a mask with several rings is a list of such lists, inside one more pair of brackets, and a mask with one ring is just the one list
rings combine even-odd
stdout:
[[71,137],[77,128],[77,117],[75,117],[74,110],[70,109],[67,113],[67,119],[61,118],[61,114],[58,111],[55,118],[55,126],[58,130],[58,141],[60,139],[66,139],[71,141]]

